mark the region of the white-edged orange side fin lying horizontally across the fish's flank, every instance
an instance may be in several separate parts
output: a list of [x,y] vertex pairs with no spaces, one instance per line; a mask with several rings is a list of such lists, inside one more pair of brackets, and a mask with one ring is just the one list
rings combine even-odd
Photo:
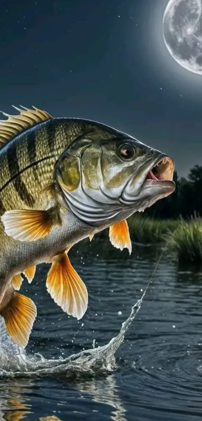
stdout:
[[50,232],[54,223],[54,209],[6,211],[2,222],[10,237],[19,241],[35,241]]

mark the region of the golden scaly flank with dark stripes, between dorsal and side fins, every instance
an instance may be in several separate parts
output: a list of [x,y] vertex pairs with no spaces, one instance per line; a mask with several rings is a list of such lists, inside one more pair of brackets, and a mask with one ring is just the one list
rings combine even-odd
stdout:
[[0,149],[1,215],[11,209],[46,209],[55,163],[79,132],[82,124],[49,119]]

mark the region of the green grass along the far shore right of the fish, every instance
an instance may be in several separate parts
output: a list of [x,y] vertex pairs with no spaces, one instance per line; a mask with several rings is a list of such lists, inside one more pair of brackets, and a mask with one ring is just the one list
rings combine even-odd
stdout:
[[[202,263],[202,218],[156,220],[134,214],[128,226],[131,240],[143,244],[169,241],[169,249],[177,253],[179,261]],[[101,235],[108,235],[108,230]]]

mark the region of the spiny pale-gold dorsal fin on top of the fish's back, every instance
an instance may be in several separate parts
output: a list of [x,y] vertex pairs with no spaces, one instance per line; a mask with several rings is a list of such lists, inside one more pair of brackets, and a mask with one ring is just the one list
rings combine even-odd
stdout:
[[22,133],[29,127],[32,127],[34,124],[53,118],[48,112],[34,106],[33,110],[23,107],[22,105],[20,106],[23,109],[17,108],[14,105],[12,106],[20,111],[20,114],[10,115],[1,111],[4,115],[6,115],[6,117],[8,117],[8,119],[0,120],[0,148],[13,139],[13,137]]

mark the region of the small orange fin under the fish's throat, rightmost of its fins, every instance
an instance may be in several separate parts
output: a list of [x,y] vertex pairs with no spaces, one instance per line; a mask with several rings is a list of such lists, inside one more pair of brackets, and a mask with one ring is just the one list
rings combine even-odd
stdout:
[[114,247],[121,251],[128,248],[129,254],[131,254],[132,244],[126,219],[109,227],[109,239]]

